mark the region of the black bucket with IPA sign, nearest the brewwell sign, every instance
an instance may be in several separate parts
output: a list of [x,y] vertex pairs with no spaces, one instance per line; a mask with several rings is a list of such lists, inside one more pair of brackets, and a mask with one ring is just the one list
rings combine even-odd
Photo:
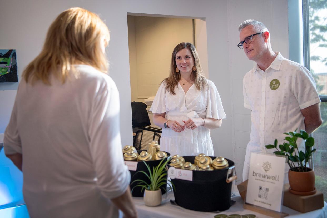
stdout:
[[[185,162],[194,163],[195,156],[183,156]],[[215,157],[211,157],[215,159]],[[228,167],[213,171],[193,171],[193,181],[172,179],[175,185],[175,202],[186,209],[213,212],[231,207],[232,182],[227,177],[233,176],[234,162],[228,161]],[[235,169],[233,169],[235,170]],[[227,175],[229,174],[229,175]]]

